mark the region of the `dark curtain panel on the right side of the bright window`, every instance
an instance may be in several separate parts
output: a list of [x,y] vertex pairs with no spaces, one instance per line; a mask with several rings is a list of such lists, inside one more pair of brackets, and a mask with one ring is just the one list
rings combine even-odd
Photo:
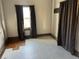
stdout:
[[36,28],[36,15],[35,15],[35,7],[30,6],[31,11],[31,36],[32,38],[37,37],[37,28]]

